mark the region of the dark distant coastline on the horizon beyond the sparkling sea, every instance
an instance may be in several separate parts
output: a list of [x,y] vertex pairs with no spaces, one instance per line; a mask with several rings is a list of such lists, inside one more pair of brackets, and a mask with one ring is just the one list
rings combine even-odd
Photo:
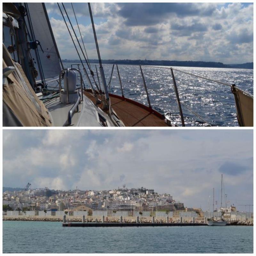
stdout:
[[[77,62],[80,60],[62,60],[63,62]],[[99,60],[89,60],[91,63],[99,63]],[[246,68],[253,69],[253,62],[242,64],[223,64],[213,61],[178,61],[178,60],[101,60],[103,64],[123,65],[153,65],[153,66],[180,66],[180,67],[201,67],[201,68]],[[85,61],[83,61],[85,62]]]

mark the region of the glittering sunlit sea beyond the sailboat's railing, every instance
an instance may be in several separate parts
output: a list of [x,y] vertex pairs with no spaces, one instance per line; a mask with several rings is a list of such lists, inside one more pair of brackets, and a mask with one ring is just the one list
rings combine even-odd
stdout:
[[[72,63],[64,63],[64,66],[66,68],[70,68],[71,64]],[[108,84],[112,65],[106,64],[103,65],[103,67]],[[118,65],[118,68],[123,84],[124,96],[147,105],[147,97],[139,66]],[[252,69],[191,67],[174,68],[229,84],[235,83],[239,88],[253,94]],[[159,67],[142,67],[142,69],[148,87],[152,107],[162,114],[169,116],[174,123],[180,125],[179,109],[177,107],[176,96],[173,90],[170,69],[162,69]],[[95,79],[98,83],[94,64],[92,64],[92,70],[95,73]],[[180,73],[175,70],[174,76],[179,90],[180,100],[188,108],[199,114],[199,116],[201,116],[211,125],[238,126],[236,120],[234,96],[229,86],[216,84],[214,82]],[[87,85],[88,83],[84,74],[83,77],[84,82]],[[101,80],[100,84],[102,85]],[[116,66],[113,71],[109,92],[122,95]],[[186,107],[182,106],[182,110],[185,116],[186,126],[204,125],[202,120]]]

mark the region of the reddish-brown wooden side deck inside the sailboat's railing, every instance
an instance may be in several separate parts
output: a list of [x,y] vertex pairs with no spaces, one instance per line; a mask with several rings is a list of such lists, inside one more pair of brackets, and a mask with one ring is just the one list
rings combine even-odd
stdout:
[[[84,94],[96,104],[96,100],[90,90],[84,91]],[[100,99],[99,96],[98,98]],[[109,98],[112,109],[125,126],[168,126],[164,116],[154,109],[115,94],[109,94]],[[97,104],[97,106],[102,109],[102,103]]]

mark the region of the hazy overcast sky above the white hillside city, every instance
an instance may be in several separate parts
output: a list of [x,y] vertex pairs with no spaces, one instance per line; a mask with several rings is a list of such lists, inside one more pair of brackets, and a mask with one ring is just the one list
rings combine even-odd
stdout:
[[3,186],[100,190],[126,184],[207,210],[213,187],[220,202],[223,173],[228,200],[252,204],[252,136],[251,130],[4,130]]

